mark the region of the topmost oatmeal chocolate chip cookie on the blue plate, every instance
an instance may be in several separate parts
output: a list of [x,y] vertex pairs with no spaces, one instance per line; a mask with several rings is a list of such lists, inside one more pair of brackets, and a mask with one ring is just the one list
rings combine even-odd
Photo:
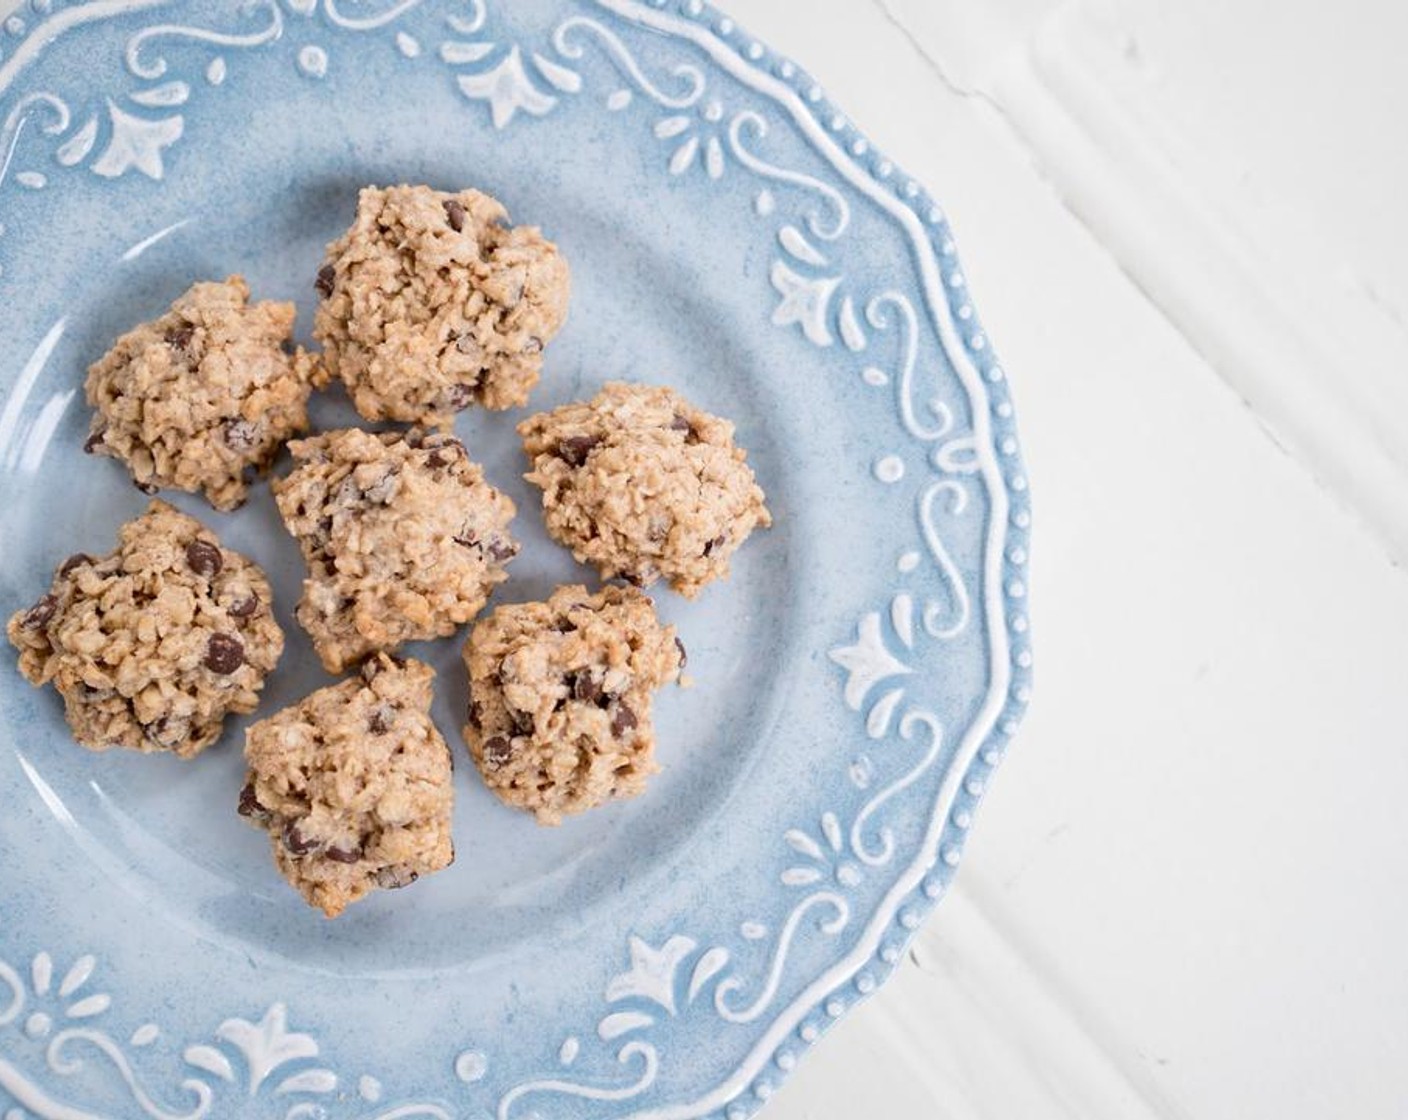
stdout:
[[318,272],[314,335],[363,417],[448,427],[527,404],[569,287],[558,247],[487,194],[366,187]]

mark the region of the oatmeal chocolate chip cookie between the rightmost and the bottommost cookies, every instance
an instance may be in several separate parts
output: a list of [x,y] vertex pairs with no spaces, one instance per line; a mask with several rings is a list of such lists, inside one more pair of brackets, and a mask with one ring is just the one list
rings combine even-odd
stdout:
[[684,647],[634,587],[498,607],[465,664],[470,754],[498,799],[539,824],[634,797],[659,769],[652,693],[679,679]]

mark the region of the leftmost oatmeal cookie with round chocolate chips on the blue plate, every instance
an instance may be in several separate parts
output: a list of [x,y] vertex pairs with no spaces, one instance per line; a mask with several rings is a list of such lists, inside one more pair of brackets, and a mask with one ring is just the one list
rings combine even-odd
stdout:
[[191,758],[228,713],[253,711],[283,652],[270,602],[258,565],[152,502],[115,552],[69,556],[7,633],[20,672],[63,697],[80,744]]

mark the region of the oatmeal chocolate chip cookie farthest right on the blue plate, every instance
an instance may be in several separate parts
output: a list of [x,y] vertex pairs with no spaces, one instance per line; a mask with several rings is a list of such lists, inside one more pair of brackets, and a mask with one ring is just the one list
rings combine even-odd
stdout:
[[518,425],[548,531],[603,579],[693,599],[772,516],[734,425],[669,389],[611,382]]

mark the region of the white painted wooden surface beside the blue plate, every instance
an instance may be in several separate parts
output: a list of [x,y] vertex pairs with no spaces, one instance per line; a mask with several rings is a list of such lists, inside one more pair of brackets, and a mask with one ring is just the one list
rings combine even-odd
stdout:
[[734,0],[945,203],[1036,697],[770,1120],[1408,1116],[1408,7]]

